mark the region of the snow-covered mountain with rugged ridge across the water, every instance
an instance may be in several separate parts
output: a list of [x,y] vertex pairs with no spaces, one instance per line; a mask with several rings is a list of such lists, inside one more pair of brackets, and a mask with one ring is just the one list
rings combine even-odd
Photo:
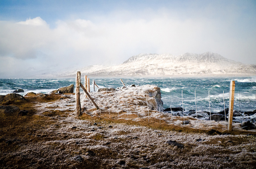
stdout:
[[[160,77],[173,75],[256,75],[256,64],[243,64],[219,54],[139,54],[115,66],[94,65],[80,70],[90,77]],[[56,76],[74,76],[76,71]]]

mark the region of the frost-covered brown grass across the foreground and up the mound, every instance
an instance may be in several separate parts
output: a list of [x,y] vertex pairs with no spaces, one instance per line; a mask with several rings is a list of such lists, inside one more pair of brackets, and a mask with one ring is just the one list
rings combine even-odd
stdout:
[[[87,100],[83,116],[76,117],[74,95],[62,100],[58,95],[51,102],[33,100],[30,109],[35,111],[29,116],[1,116],[0,168],[255,168],[255,136],[236,129],[231,135],[209,135],[210,124],[192,117],[185,119],[191,124],[182,125],[183,117],[162,114],[160,125],[159,112],[148,109],[143,92],[90,94],[100,104],[95,97],[99,94],[101,106],[106,106],[101,114]],[[135,98],[140,100],[139,118]],[[152,100],[149,106],[154,104]],[[212,123],[222,131],[219,125]],[[74,160],[77,155],[82,162]]]

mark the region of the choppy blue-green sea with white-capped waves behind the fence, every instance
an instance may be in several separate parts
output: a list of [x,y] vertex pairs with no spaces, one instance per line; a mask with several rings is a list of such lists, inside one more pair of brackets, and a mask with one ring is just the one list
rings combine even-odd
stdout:
[[[91,78],[100,87],[120,87],[119,78]],[[182,107],[185,111],[196,109],[197,111],[219,112],[228,108],[229,85],[235,80],[234,109],[241,111],[253,111],[256,109],[256,77],[205,77],[205,78],[122,78],[126,85],[157,85],[161,88],[164,108]],[[12,93],[16,89],[27,92],[48,93],[60,87],[75,85],[75,78],[65,79],[0,79],[0,95]],[[84,79],[82,79],[82,82]],[[97,88],[96,88],[97,89]],[[91,92],[93,87],[91,86]],[[196,91],[196,99],[195,99]],[[224,101],[223,101],[224,91]],[[210,96],[209,96],[210,95]],[[182,99],[183,98],[183,99]],[[210,99],[209,99],[210,98]],[[209,106],[210,100],[210,106]]]

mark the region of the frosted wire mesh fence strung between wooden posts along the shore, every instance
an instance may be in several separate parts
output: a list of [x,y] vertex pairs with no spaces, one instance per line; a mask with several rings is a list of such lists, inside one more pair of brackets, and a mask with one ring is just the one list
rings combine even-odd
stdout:
[[[164,93],[163,100],[165,104],[161,104],[161,101],[157,100],[159,95],[157,96],[156,93],[161,92]],[[254,92],[255,98],[252,98],[252,93],[247,93],[249,96],[243,95],[242,99],[240,91],[235,90],[234,109],[238,111],[234,112],[233,122],[241,123],[247,118],[244,112],[248,109],[251,109],[251,112],[254,110],[252,108],[256,107],[256,91]],[[147,118],[148,123],[158,121],[159,124],[162,122],[162,124],[167,125],[189,125],[192,128],[202,128],[202,126],[216,128],[218,126],[223,130],[227,129],[229,91],[223,91],[219,94],[214,92],[214,95],[211,95],[211,91],[208,90],[208,96],[200,90],[194,90],[193,92],[181,90],[180,96],[177,93],[177,91],[174,93],[173,90],[161,91],[147,88],[138,89],[137,87],[128,87],[117,91],[90,92],[99,106],[99,110],[93,107],[84,94],[81,95],[83,98],[81,100],[82,107],[86,107],[85,113],[101,118],[133,121]],[[192,94],[193,97],[191,97]],[[169,111],[163,111],[164,108],[168,107],[170,108]],[[174,108],[177,107],[182,109],[174,111]],[[244,107],[246,111],[243,111]]]

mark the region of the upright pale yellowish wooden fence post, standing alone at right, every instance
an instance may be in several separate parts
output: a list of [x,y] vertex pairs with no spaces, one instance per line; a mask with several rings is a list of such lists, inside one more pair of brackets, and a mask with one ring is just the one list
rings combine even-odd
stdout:
[[230,89],[229,89],[229,107],[228,107],[228,130],[229,131],[232,130],[234,95],[235,95],[235,81],[231,81]]

